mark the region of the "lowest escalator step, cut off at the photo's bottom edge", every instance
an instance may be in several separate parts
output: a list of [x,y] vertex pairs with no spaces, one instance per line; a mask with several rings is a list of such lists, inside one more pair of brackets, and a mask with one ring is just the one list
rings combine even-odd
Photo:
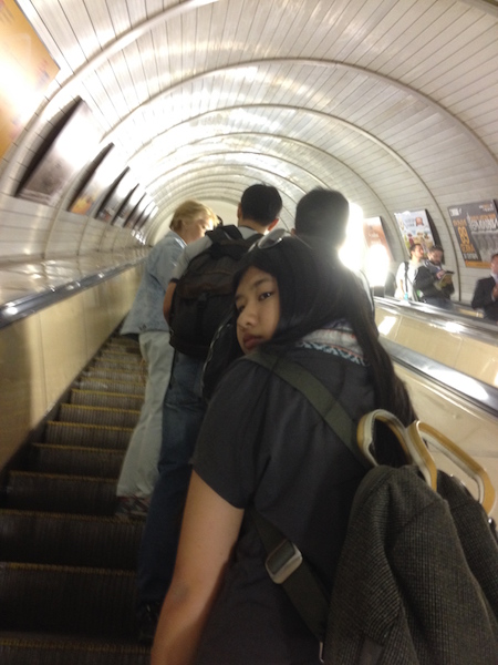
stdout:
[[80,641],[0,633],[2,665],[149,665],[151,651],[132,642]]

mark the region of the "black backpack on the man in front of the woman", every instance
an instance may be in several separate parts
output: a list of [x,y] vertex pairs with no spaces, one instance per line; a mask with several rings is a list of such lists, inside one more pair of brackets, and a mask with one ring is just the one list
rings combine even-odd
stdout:
[[206,358],[211,339],[232,304],[239,260],[261,234],[245,239],[237,226],[206,234],[211,245],[195,256],[179,278],[172,305],[170,344],[178,351]]

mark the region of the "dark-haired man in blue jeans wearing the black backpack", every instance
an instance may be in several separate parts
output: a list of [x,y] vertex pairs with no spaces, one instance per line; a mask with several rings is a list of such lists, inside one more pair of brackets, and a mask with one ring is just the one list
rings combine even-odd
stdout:
[[[273,186],[256,184],[245,190],[237,211],[240,235],[247,241],[255,237],[256,242],[277,224],[281,206],[282,200]],[[228,226],[224,226],[227,237],[228,229]],[[166,318],[178,279],[188,272],[195,258],[211,245],[207,235],[188,245],[180,254],[166,290]],[[170,327],[175,336],[174,320]],[[198,341],[204,344],[205,340]],[[206,410],[200,382],[204,362],[205,356],[189,354],[176,344],[172,378],[164,400],[158,479],[138,551],[137,624],[138,641],[142,643],[152,642],[159,608],[173,575],[181,511],[191,471],[189,460]]]

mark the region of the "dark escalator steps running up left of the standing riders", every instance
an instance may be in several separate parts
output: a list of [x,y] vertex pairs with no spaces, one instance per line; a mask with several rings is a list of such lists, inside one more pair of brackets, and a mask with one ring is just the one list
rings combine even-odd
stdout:
[[7,474],[0,509],[2,665],[142,665],[135,570],[143,522],[114,516],[145,381],[138,345],[111,338],[42,441]]

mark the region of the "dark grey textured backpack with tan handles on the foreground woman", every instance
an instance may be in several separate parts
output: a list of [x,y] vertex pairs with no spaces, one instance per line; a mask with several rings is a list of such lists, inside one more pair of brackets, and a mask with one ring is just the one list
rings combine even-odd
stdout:
[[[434,428],[419,421],[404,428],[382,409],[364,416],[356,432],[356,424],[324,385],[288,358],[258,349],[245,360],[262,365],[301,391],[369,469],[355,493],[332,596],[297,545],[249,508],[268,553],[268,574],[281,584],[315,635],[321,661],[325,665],[496,665],[498,539],[484,508],[490,510],[495,498],[484,469]],[[415,430],[424,436],[417,450],[411,444]],[[452,451],[449,459],[460,466],[459,459],[479,475],[483,505],[458,480],[437,470],[425,439],[433,446],[437,442],[440,451]],[[400,449],[409,444],[414,460],[432,462],[421,463],[426,480],[417,466],[406,464],[406,458],[401,467],[371,467],[365,450],[376,463],[388,459],[392,442]]]

